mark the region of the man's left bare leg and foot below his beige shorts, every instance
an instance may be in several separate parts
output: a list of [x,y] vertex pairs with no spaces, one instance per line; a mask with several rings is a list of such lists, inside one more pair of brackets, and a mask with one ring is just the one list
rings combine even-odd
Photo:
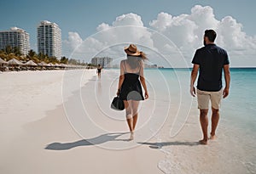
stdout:
[[203,132],[203,139],[199,141],[201,144],[207,144],[208,141],[208,117],[207,117],[208,109],[200,109],[200,123],[201,130]]

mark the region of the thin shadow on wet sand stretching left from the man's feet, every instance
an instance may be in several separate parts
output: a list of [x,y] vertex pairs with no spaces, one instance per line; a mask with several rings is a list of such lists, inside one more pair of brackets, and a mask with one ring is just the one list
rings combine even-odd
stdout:
[[148,145],[149,148],[151,149],[161,149],[164,146],[197,146],[200,145],[199,142],[162,142],[162,143],[142,143],[138,142],[143,145]]

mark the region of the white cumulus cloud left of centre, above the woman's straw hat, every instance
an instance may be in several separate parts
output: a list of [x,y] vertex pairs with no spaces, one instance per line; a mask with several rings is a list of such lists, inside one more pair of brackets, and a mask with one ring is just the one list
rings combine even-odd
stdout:
[[[151,32],[144,27],[141,17],[137,14],[123,14],[113,21],[112,25],[102,23],[96,33],[84,41],[79,34],[69,33],[63,47],[76,48],[72,56],[90,62],[94,56],[124,57],[124,47],[136,43],[138,47],[153,47]],[[78,42],[79,41],[79,42]]]

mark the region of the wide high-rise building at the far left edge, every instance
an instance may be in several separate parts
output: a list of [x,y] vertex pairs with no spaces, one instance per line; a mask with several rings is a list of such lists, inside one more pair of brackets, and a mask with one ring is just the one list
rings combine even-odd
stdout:
[[7,46],[20,48],[20,53],[27,54],[30,50],[29,34],[17,27],[12,27],[9,31],[0,31],[0,49]]

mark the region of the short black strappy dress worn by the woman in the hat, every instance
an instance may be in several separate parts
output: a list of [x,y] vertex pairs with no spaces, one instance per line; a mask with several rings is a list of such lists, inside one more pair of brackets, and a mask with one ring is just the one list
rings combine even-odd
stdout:
[[125,80],[121,86],[119,98],[123,100],[144,100],[143,88],[139,81],[139,74],[140,70],[137,73],[125,72]]

